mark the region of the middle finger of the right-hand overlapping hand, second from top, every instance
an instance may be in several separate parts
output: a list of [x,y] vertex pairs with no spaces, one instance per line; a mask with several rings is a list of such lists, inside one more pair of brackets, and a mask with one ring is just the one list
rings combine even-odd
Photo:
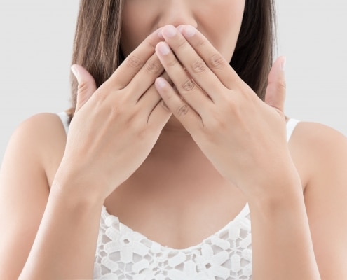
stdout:
[[162,34],[165,42],[170,45],[175,56],[191,78],[215,102],[220,97],[219,92],[221,92],[223,87],[215,73],[212,72],[204,59],[198,55],[196,50],[193,49],[186,41],[186,38],[173,25],[163,27]]

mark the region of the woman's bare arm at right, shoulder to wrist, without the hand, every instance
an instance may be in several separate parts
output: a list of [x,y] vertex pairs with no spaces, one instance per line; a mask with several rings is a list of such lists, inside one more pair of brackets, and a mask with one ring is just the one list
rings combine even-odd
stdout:
[[[300,123],[290,149],[308,183],[304,197],[283,193],[275,203],[250,204],[254,275],[347,279],[347,139],[324,125]],[[310,278],[310,267],[319,274]]]

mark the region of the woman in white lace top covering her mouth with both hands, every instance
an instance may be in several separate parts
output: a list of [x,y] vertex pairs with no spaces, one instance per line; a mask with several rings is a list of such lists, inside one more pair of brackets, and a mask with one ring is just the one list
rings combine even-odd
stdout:
[[82,0],[74,109],[4,158],[1,279],[347,278],[346,139],[285,118],[273,13]]

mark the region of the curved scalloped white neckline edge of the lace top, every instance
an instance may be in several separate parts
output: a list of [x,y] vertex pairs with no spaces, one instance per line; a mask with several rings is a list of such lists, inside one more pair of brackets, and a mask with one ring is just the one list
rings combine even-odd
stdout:
[[[193,251],[193,250],[196,250],[198,248],[201,248],[203,246],[203,244],[206,244],[208,241],[212,241],[212,239],[214,239],[214,237],[221,235],[225,231],[229,231],[229,228],[231,227],[231,225],[233,223],[237,223],[238,221],[242,220],[243,218],[246,218],[246,216],[248,214],[250,214],[250,209],[249,209],[248,203],[246,202],[245,206],[240,210],[240,212],[231,221],[229,221],[226,225],[224,225],[223,228],[221,228],[220,230],[218,230],[214,234],[210,235],[209,237],[206,237],[205,239],[203,239],[203,241],[200,241],[199,244],[189,246],[187,248],[171,248],[169,246],[164,246],[164,245],[158,243],[157,241],[149,239],[145,235],[142,235],[141,232],[137,232],[136,230],[132,230],[132,228],[128,227],[128,225],[121,223],[121,221],[119,221],[119,218],[117,216],[109,214],[109,212],[107,211],[107,208],[104,205],[102,205],[102,218],[104,219],[104,223],[106,223],[107,218],[111,218],[112,220],[116,221],[116,223],[118,223],[120,230],[121,230],[121,228],[123,228],[126,231],[130,232],[131,235],[136,235],[138,237],[138,239],[144,239],[146,241],[146,242],[144,242],[144,244],[146,244],[146,246],[148,246],[147,244],[151,244],[151,246],[156,246],[157,248],[161,248],[161,250],[163,250],[163,251],[174,251],[174,252],[182,252],[182,253],[187,253],[189,251]],[[111,226],[112,225],[107,225],[107,228],[110,228]]]

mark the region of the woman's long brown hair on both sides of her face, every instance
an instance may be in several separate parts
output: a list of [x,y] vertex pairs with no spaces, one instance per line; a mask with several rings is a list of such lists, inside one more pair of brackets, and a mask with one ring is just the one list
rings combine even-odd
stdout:
[[[124,0],[81,0],[72,64],[86,68],[100,87],[123,61],[119,46]],[[275,42],[274,0],[246,0],[240,35],[230,65],[264,99]],[[72,76],[72,109],[77,82]]]

